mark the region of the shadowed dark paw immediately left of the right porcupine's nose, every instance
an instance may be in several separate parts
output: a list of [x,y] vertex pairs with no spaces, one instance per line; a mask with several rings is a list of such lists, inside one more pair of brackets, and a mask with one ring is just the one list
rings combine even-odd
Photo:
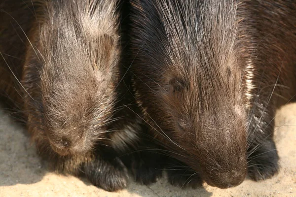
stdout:
[[173,186],[184,188],[199,188],[202,186],[202,179],[198,173],[192,173],[186,169],[168,169],[168,180]]

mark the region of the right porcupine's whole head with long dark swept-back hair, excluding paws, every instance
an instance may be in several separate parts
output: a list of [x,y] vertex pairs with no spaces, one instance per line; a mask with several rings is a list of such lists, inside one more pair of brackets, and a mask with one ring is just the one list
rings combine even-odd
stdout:
[[153,134],[208,184],[239,185],[248,121],[236,3],[132,2],[135,86]]

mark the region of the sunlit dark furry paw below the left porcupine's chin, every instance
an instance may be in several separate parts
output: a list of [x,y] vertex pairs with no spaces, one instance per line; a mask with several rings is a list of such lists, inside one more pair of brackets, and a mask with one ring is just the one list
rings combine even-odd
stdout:
[[93,185],[106,191],[118,191],[128,185],[127,168],[119,159],[92,162],[84,170]]

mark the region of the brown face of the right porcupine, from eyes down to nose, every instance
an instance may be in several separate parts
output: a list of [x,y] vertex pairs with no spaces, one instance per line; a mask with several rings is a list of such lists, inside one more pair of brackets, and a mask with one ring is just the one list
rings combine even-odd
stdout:
[[175,131],[171,139],[180,145],[183,155],[188,155],[180,159],[201,172],[209,185],[237,186],[247,174],[247,120],[239,89],[241,73],[229,66],[207,73],[201,69],[188,73],[190,76],[167,77],[168,94],[163,98]]

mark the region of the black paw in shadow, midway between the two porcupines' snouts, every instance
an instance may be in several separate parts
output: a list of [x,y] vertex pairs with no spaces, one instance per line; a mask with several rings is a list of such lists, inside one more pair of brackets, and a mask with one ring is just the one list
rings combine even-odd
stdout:
[[142,159],[133,161],[132,174],[136,182],[149,185],[162,176],[162,167],[155,162],[155,158],[142,156]]

